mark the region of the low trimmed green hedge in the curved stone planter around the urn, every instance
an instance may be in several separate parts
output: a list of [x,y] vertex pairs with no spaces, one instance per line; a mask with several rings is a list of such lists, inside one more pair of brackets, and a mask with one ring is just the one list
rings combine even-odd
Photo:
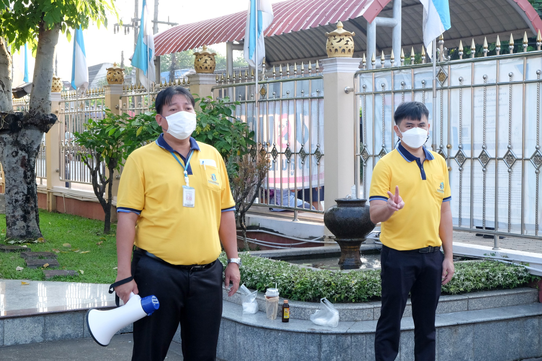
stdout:
[[[315,271],[285,261],[240,255],[241,283],[258,291],[279,288],[281,297],[298,301],[318,302],[327,297],[334,303],[365,302],[380,298],[380,271],[350,272]],[[225,254],[220,256],[226,264]],[[497,261],[462,262],[455,264],[454,278],[442,286],[443,294],[514,288],[540,279],[525,267]]]

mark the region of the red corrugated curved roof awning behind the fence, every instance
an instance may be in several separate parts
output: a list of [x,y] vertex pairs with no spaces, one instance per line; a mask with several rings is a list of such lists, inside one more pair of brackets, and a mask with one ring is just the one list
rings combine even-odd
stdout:
[[[444,34],[446,42],[457,46],[459,40],[470,43],[494,42],[497,35],[507,40],[529,36],[542,30],[542,20],[528,0],[449,0],[452,27]],[[422,4],[420,0],[402,2],[402,45],[405,52],[423,43]],[[366,49],[367,19],[377,15],[392,16],[391,0],[289,0],[273,4],[274,22],[266,31],[268,64],[314,60],[326,57],[325,32],[335,29],[338,21],[355,31],[356,56]],[[177,25],[154,36],[157,55],[170,54],[227,41],[242,42],[246,11],[197,23]],[[391,29],[377,28],[377,51],[391,49]],[[467,42],[466,42],[467,41]],[[448,44],[448,43],[447,43]],[[448,45],[448,46],[450,46]]]

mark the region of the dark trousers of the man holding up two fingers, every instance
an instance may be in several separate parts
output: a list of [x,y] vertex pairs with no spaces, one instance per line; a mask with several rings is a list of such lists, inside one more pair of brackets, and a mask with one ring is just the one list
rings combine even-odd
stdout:
[[410,292],[414,318],[414,359],[435,361],[435,312],[441,293],[442,252],[397,251],[382,246],[382,309],[376,326],[376,361],[399,352],[401,318]]

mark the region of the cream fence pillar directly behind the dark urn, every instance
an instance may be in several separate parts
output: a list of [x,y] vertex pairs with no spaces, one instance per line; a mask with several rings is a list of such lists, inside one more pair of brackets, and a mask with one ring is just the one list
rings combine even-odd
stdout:
[[[325,207],[335,205],[336,198],[350,194],[354,185],[356,153],[356,97],[345,93],[354,86],[354,73],[359,70],[358,58],[335,57],[320,61],[324,76],[325,134]],[[330,233],[325,231],[325,233]]]

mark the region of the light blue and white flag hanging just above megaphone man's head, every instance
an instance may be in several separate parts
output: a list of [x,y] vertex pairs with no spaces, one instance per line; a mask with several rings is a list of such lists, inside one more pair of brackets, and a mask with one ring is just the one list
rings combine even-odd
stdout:
[[144,76],[139,78],[139,82],[145,89],[149,89],[149,81],[156,80],[156,72],[154,69],[154,35],[152,34],[152,22],[146,0],[143,0],[139,24],[139,36],[130,60],[135,68],[143,71]]

